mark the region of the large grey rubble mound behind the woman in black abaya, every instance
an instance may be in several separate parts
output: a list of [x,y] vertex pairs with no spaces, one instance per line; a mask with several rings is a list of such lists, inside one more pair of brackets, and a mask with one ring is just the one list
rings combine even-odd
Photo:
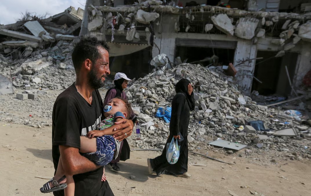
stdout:
[[[134,81],[128,88],[127,97],[141,124],[141,140],[134,138],[133,141],[136,147],[164,148],[169,123],[154,115],[159,107],[170,107],[175,95],[174,85],[180,78],[187,78],[195,84],[196,107],[191,113],[188,130],[188,142],[194,147],[198,142],[222,138],[248,145],[248,148],[295,152],[311,158],[310,127],[301,125],[300,120],[284,111],[257,105],[239,92],[233,77],[225,76],[217,68],[212,71],[194,64],[158,70]],[[256,131],[248,125],[255,120],[264,122],[265,131]],[[277,132],[281,129],[285,130]]]

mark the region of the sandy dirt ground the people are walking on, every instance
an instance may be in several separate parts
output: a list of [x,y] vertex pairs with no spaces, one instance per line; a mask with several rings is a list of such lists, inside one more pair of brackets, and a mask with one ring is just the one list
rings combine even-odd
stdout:
[[[0,195],[43,195],[39,188],[47,181],[35,176],[52,177],[51,127],[32,128],[0,122]],[[199,153],[203,153],[198,151]],[[309,196],[311,193],[311,164],[309,160],[254,164],[237,155],[209,152],[209,156],[233,163],[219,163],[200,156],[189,155],[191,179],[170,175],[148,175],[146,158],[159,155],[157,151],[132,151],[131,159],[121,162],[122,172],[106,166],[106,175],[115,195],[252,195]],[[130,176],[135,178],[131,179]],[[241,188],[244,187],[244,188]],[[44,194],[46,196],[53,194]]]

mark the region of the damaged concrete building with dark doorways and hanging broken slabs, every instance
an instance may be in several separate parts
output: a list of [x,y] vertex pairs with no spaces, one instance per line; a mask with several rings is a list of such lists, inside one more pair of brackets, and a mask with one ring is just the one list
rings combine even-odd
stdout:
[[212,2],[88,0],[81,32],[108,42],[112,72],[142,77],[166,54],[170,66],[232,63],[246,95],[292,94],[311,69],[310,3]]

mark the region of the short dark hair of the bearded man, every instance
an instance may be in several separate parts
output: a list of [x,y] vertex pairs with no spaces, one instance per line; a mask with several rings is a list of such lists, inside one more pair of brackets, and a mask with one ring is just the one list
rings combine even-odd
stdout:
[[90,59],[92,63],[95,63],[100,58],[98,46],[103,47],[109,52],[109,46],[105,41],[89,36],[81,38],[81,41],[77,43],[72,52],[72,62],[76,72],[80,71],[85,59]]

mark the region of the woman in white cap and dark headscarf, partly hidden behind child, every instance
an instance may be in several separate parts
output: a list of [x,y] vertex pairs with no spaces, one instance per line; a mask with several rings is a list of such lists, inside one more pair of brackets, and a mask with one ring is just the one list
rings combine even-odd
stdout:
[[[116,75],[114,76],[114,81],[113,81],[115,86],[113,88],[110,88],[107,90],[105,100],[104,100],[104,106],[107,105],[107,103],[111,99],[116,98],[116,97],[121,97],[125,100],[128,99],[126,97],[125,91],[123,91],[123,89],[125,89],[128,86],[128,81],[131,81],[131,79],[129,79],[128,76],[125,75],[125,73],[121,73],[121,72],[116,73]],[[137,120],[133,111],[131,112],[130,119],[134,123]],[[126,141],[126,139],[124,139],[121,142],[118,158],[111,161],[109,164],[110,164],[112,170],[114,170],[115,172],[119,172],[120,168],[117,165],[117,163],[120,160],[125,161],[129,158],[130,158],[130,146],[128,145],[128,142]]]

